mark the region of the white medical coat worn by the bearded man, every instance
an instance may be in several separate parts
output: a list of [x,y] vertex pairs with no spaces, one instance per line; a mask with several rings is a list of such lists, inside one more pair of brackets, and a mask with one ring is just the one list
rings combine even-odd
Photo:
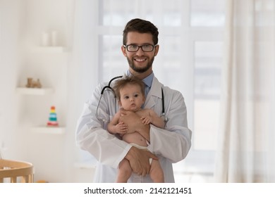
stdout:
[[[98,160],[94,182],[115,182],[118,164],[126,156],[130,144],[106,131],[108,122],[119,107],[110,89],[106,89],[99,103],[102,88],[99,84],[82,110],[76,128],[76,142]],[[184,98],[179,91],[164,87],[156,77],[147,95],[144,108],[152,108],[161,116],[161,87],[164,91],[164,109],[168,122],[165,129],[151,125],[149,151],[158,156],[164,171],[165,182],[174,182],[172,163],[183,160],[191,146],[191,131],[188,129]],[[97,109],[97,105],[99,107]],[[99,120],[96,117],[96,114]],[[133,174],[128,182],[152,182],[146,177]]]

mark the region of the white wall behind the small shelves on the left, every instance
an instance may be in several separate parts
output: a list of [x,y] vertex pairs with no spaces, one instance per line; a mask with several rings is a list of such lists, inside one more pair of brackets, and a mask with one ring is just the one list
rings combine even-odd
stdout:
[[[92,170],[75,167],[75,123],[79,106],[71,63],[73,0],[0,0],[0,148],[6,159],[25,160],[35,166],[35,181],[92,182]],[[58,44],[67,53],[39,53],[42,32],[58,32]],[[21,95],[27,77],[54,87],[46,96]],[[47,124],[50,106],[56,106],[65,134],[32,132]],[[76,110],[78,109],[78,110]],[[81,174],[81,176],[80,176]],[[86,174],[87,177],[82,176]]]

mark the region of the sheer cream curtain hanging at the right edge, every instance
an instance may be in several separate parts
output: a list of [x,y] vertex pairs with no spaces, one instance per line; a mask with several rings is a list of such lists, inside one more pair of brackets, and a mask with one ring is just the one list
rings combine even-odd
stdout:
[[275,182],[275,1],[226,8],[216,182]]

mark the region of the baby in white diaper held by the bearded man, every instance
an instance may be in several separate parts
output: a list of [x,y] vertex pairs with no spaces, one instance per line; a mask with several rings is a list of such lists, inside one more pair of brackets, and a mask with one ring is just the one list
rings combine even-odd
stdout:
[[[117,80],[114,85],[114,91],[116,97],[118,98],[118,104],[124,110],[133,111],[142,120],[145,125],[153,124],[156,127],[164,128],[164,120],[161,119],[152,109],[142,109],[142,104],[145,102],[145,88],[144,83],[135,77],[124,76],[121,80]],[[127,133],[128,126],[123,122],[119,122],[120,117],[123,114],[118,111],[114,115],[113,120],[109,122],[108,131],[111,134],[120,134],[123,141],[129,144],[147,151],[147,141],[138,132]],[[151,167],[149,175],[153,182],[161,183],[164,182],[164,173],[161,169],[161,165],[158,160],[149,160]],[[128,160],[123,159],[118,166],[118,176],[116,182],[126,183],[130,175],[132,174],[132,169]]]

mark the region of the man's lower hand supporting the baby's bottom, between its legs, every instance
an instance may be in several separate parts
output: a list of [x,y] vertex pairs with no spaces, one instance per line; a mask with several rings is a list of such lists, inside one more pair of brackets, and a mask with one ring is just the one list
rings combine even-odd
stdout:
[[146,174],[149,174],[149,158],[158,160],[157,156],[153,153],[140,150],[134,146],[130,148],[125,158],[129,161],[133,172],[138,175],[142,175],[142,177],[144,177]]

